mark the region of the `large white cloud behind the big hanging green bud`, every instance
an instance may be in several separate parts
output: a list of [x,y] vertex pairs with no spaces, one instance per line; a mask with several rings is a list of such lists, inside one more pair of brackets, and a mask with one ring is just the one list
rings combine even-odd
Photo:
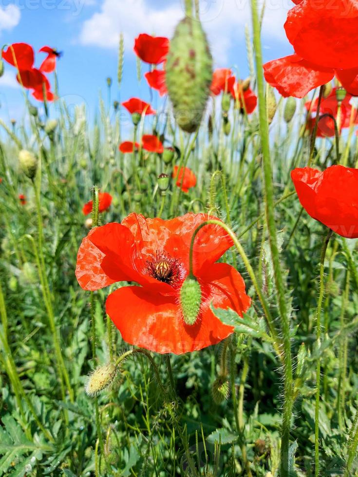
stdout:
[[[159,7],[153,0],[103,0],[101,9],[82,25],[80,41],[84,45],[117,48],[123,32],[127,51],[132,50],[139,33],[171,36],[178,20],[184,16],[184,0],[167,1]],[[157,4],[155,6],[155,4]],[[201,20],[216,63],[223,66],[230,49],[242,52],[245,25],[251,22],[250,0],[202,0]],[[263,38],[287,42],[283,23],[293,6],[291,0],[267,0]]]

